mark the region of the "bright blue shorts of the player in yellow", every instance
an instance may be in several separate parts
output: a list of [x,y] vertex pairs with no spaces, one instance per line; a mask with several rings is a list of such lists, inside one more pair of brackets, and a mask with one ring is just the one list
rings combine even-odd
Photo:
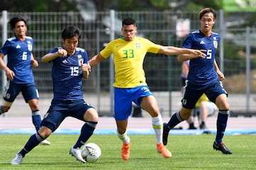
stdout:
[[138,86],[135,88],[114,87],[114,118],[115,120],[126,120],[132,114],[132,101],[141,106],[142,97],[153,95],[149,86]]

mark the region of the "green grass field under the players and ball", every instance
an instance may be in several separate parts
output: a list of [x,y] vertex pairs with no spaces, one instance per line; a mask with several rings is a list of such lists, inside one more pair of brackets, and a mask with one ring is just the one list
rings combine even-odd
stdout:
[[256,169],[256,135],[226,135],[225,144],[233,151],[225,155],[213,150],[215,135],[170,135],[168,148],[173,156],[166,159],[156,153],[154,135],[130,135],[131,154],[128,161],[120,155],[122,142],[116,135],[93,135],[102,149],[96,163],[82,164],[69,154],[78,135],[51,135],[50,146],[39,145],[18,166],[11,165],[16,152],[30,135],[0,135],[0,169]]

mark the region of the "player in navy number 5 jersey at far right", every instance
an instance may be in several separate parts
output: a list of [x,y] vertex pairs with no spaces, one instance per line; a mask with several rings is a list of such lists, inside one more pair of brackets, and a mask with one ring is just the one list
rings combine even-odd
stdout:
[[225,79],[218,68],[215,53],[220,41],[220,35],[213,33],[216,13],[212,8],[203,8],[199,12],[201,29],[188,35],[182,47],[206,50],[206,57],[195,57],[191,55],[178,55],[178,61],[190,60],[188,81],[183,94],[182,108],[171,116],[168,123],[164,123],[163,142],[167,145],[169,131],[178,123],[187,120],[191,116],[198,98],[206,94],[210,101],[219,108],[217,118],[217,133],[213,142],[213,149],[232,154],[230,149],[223,144],[223,136],[227,126],[229,103],[228,94],[223,89],[221,80]]

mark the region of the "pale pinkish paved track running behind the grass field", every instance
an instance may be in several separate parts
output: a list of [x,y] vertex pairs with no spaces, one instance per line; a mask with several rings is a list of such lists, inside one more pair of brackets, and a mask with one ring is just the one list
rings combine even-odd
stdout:
[[[169,118],[163,118],[164,121],[168,121]],[[76,120],[75,118],[66,118],[60,125],[59,129],[80,129],[82,126],[82,121]],[[198,126],[198,123],[195,123]],[[216,117],[208,118],[206,125],[208,129],[215,130],[216,127]],[[178,127],[183,129],[188,128],[188,124],[183,122]],[[2,129],[33,129],[33,124],[31,122],[31,117],[20,117],[20,118],[0,118],[0,130]],[[99,130],[116,129],[114,118],[111,117],[100,117],[99,123],[97,125]],[[151,129],[151,118],[129,118],[129,129]],[[256,129],[256,118],[251,117],[238,117],[229,118],[227,130],[246,130],[246,129]]]

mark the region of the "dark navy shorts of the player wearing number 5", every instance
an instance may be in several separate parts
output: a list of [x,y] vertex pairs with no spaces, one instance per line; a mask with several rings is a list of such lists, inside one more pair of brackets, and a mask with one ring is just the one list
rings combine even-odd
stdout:
[[205,93],[213,103],[215,103],[216,98],[220,96],[220,94],[226,94],[228,96],[227,91],[225,91],[222,83],[218,80],[206,86],[196,86],[187,81],[186,85],[183,86],[183,98],[181,100],[183,108],[193,109],[203,93]]

